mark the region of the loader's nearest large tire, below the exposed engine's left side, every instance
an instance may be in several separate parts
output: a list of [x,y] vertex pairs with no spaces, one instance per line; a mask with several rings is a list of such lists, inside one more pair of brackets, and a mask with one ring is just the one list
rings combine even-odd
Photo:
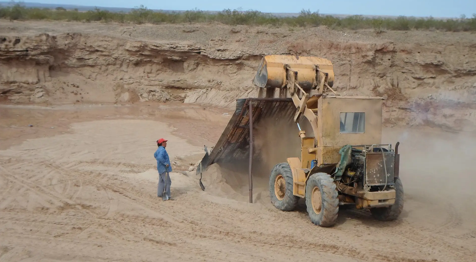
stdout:
[[316,173],[306,183],[306,207],[315,225],[331,227],[336,223],[339,199],[334,179],[325,173]]

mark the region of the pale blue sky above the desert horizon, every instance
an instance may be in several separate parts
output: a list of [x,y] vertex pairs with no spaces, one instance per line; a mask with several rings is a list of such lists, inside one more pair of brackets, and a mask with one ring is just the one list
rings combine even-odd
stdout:
[[[18,1],[18,0],[17,0]],[[23,0],[53,4],[75,4],[104,7],[133,8],[143,4],[149,9],[258,10],[270,13],[299,13],[302,9],[321,14],[381,15],[415,17],[472,17],[476,13],[476,0]],[[386,3],[385,3],[386,2]]]

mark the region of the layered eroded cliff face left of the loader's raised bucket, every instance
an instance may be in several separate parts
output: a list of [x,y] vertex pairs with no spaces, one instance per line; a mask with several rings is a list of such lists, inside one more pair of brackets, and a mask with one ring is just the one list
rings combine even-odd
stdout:
[[191,89],[239,87],[246,77],[243,61],[193,45],[81,34],[3,39],[0,92],[19,103],[184,100]]

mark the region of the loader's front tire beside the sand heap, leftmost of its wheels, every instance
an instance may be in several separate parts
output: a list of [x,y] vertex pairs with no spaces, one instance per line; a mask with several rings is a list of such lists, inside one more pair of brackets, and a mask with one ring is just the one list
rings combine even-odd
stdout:
[[292,211],[299,197],[292,194],[292,173],[288,163],[274,166],[269,177],[269,196],[271,203],[282,211]]

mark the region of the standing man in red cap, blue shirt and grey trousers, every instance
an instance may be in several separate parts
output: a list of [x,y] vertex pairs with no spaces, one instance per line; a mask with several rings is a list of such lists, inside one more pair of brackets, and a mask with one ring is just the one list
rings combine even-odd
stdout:
[[170,165],[169,154],[165,150],[167,146],[167,140],[161,138],[157,140],[157,150],[153,154],[155,160],[157,160],[157,171],[159,172],[159,185],[157,186],[157,196],[162,196],[162,192],[164,192],[167,196],[169,196],[169,200],[171,199],[170,196],[170,186],[172,184],[172,180],[170,179],[169,172],[172,171],[172,167]]

